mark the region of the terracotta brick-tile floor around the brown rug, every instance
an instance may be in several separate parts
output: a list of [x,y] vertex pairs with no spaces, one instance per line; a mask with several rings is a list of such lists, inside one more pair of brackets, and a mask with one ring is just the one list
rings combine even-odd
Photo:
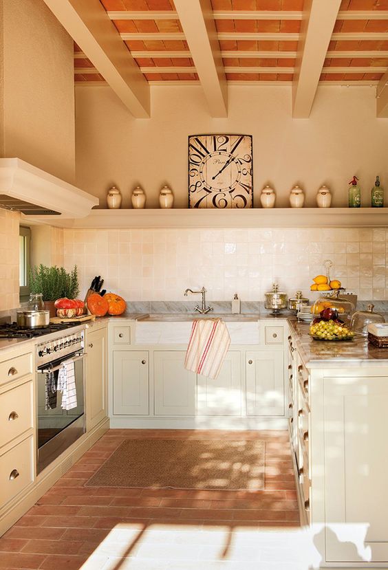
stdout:
[[[123,439],[169,437],[259,437],[265,490],[84,487]],[[109,430],[0,538],[0,568],[301,570],[303,540],[287,432]]]

